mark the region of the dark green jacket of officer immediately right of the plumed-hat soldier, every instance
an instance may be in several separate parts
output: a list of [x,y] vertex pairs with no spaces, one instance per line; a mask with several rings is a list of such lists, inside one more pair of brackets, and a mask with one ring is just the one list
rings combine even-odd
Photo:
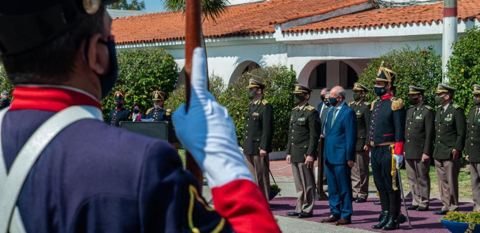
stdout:
[[423,103],[407,110],[405,123],[405,158],[422,159],[423,154],[432,155],[435,137],[435,115],[433,108]]

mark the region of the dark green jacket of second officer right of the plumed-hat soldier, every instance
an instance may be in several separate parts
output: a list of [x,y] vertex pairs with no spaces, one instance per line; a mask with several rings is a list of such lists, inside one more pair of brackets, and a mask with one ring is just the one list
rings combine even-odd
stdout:
[[[452,150],[463,151],[465,146],[465,114],[458,105],[450,103],[441,114],[443,106],[437,109],[435,116],[435,150],[433,158],[450,159]],[[462,156],[462,153],[460,153]]]

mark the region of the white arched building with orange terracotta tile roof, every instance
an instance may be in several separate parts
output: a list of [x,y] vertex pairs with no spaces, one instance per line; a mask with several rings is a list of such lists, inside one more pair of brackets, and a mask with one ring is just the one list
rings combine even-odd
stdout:
[[[326,86],[349,88],[372,58],[390,49],[433,46],[441,54],[442,2],[427,2],[381,9],[370,0],[270,0],[230,6],[216,22],[203,23],[209,73],[231,83],[250,68],[284,64],[293,65],[298,82],[316,92]],[[479,25],[479,19],[480,0],[458,2],[460,35]],[[118,49],[164,48],[183,68],[181,12],[116,18],[113,33]]]

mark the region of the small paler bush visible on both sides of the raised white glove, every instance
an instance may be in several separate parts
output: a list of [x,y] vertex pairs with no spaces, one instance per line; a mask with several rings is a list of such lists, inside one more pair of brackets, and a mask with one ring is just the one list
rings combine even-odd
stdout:
[[[208,79],[208,88],[210,92],[212,93],[213,97],[218,99],[220,96],[221,92],[225,90],[225,83],[223,83],[223,80],[220,76],[218,75],[212,75]],[[170,94],[170,97],[167,98],[165,101],[165,107],[176,110],[178,106],[180,106],[182,103],[185,103],[185,85],[179,85],[173,92]]]

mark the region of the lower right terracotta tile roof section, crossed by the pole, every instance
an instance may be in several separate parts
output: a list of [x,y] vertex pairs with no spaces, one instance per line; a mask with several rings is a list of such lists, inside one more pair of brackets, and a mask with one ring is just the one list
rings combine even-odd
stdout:
[[[458,2],[458,19],[480,19],[480,0]],[[411,25],[439,23],[443,19],[443,3],[412,6],[405,8],[374,9],[344,15],[325,21],[310,23],[282,30],[282,32],[307,32],[341,30],[346,28],[367,28],[387,25]]]

